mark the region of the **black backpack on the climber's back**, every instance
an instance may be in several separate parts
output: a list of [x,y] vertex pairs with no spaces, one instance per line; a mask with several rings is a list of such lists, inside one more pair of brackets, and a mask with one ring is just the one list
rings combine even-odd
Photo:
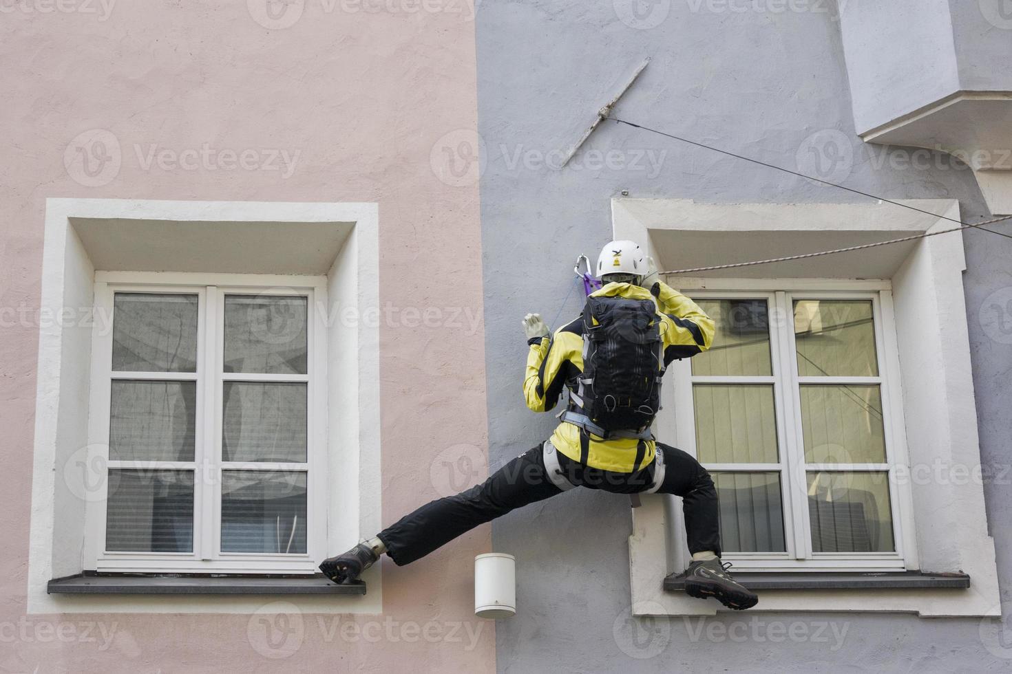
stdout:
[[653,300],[588,297],[583,375],[574,402],[592,425],[578,425],[602,437],[649,435],[661,407],[663,375],[664,343]]

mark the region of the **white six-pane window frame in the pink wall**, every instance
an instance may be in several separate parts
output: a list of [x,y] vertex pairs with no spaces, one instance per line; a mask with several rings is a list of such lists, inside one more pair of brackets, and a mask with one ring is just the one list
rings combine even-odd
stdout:
[[[312,284],[312,285],[310,285]],[[112,329],[95,321],[92,333],[89,445],[106,470],[116,468],[193,469],[193,550],[190,553],[145,553],[105,550],[106,499],[89,508],[87,556],[105,572],[182,573],[315,573],[327,544],[327,336],[317,307],[326,307],[324,277],[286,277],[259,274],[130,273],[95,274],[96,315],[113,316],[116,292],[197,295],[197,366],[195,373],[113,373]],[[306,375],[225,373],[224,323],[226,295],[286,295],[307,298],[308,355]],[[114,316],[113,316],[114,320]],[[214,350],[212,352],[212,349]],[[109,405],[111,382],[118,378],[193,380],[197,382],[193,462],[110,461]],[[222,394],[226,381],[283,381],[308,383],[308,447],[305,464],[223,462]],[[305,554],[227,553],[221,551],[222,471],[265,470],[307,472],[307,552]],[[201,476],[209,476],[204,481]],[[107,487],[106,480],[106,487]],[[209,482],[209,483],[208,483]]]

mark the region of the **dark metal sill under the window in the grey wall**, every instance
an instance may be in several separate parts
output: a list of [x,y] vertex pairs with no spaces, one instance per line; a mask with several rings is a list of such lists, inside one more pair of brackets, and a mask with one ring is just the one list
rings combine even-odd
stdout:
[[[734,574],[750,590],[869,590],[869,589],[935,589],[969,587],[964,573],[893,572],[748,572]],[[664,579],[664,589],[680,592],[685,579],[673,573]]]

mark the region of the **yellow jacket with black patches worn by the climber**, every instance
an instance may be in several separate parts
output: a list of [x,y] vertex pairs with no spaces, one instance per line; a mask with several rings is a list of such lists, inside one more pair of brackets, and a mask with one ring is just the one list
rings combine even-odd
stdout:
[[[656,303],[664,340],[664,366],[680,358],[689,358],[709,349],[713,341],[713,319],[695,302],[677,290],[661,283]],[[646,288],[628,283],[609,283],[593,293],[597,296],[651,299]],[[556,330],[555,334],[531,344],[527,354],[527,372],[523,380],[523,395],[527,406],[535,412],[550,411],[559,402],[563,386],[576,388],[576,379],[583,372],[583,317],[578,317]],[[580,460],[580,427],[562,422],[552,435],[552,444],[564,455]],[[640,441],[636,438],[603,440],[590,436],[587,465],[591,468],[631,473],[637,463]],[[654,441],[646,443],[641,467],[654,460]]]

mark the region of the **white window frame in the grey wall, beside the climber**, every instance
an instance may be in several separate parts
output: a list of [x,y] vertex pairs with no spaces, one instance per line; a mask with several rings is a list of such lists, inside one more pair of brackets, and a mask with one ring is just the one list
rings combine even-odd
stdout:
[[[861,285],[861,284],[858,284]],[[866,284],[863,284],[866,285]],[[774,412],[777,432],[777,464],[704,464],[713,472],[779,472],[781,504],[783,506],[783,553],[725,553],[724,558],[735,567],[748,571],[903,571],[914,568],[916,558],[906,536],[914,526],[908,485],[897,479],[897,467],[906,465],[907,448],[904,432],[903,407],[896,404],[895,391],[900,382],[893,379],[899,373],[899,353],[896,349],[896,324],[892,313],[892,296],[888,282],[882,288],[869,290],[827,280],[809,281],[807,285],[784,282],[779,286],[770,281],[739,282],[727,289],[685,290],[693,299],[765,299],[769,310],[770,357],[772,376],[696,376],[691,359],[677,361],[674,370],[674,408],[676,410],[677,446],[696,455],[695,412],[692,386],[710,384],[773,384]],[[737,288],[737,289],[736,289]],[[875,351],[878,359],[877,377],[800,377],[793,331],[793,301],[795,299],[871,300],[874,320]],[[669,382],[671,380],[669,379]],[[806,464],[802,437],[799,386],[802,384],[850,383],[880,386],[886,436],[883,464]],[[890,504],[896,551],[891,553],[816,553],[812,550],[808,504],[807,472],[876,471],[889,473]]]

